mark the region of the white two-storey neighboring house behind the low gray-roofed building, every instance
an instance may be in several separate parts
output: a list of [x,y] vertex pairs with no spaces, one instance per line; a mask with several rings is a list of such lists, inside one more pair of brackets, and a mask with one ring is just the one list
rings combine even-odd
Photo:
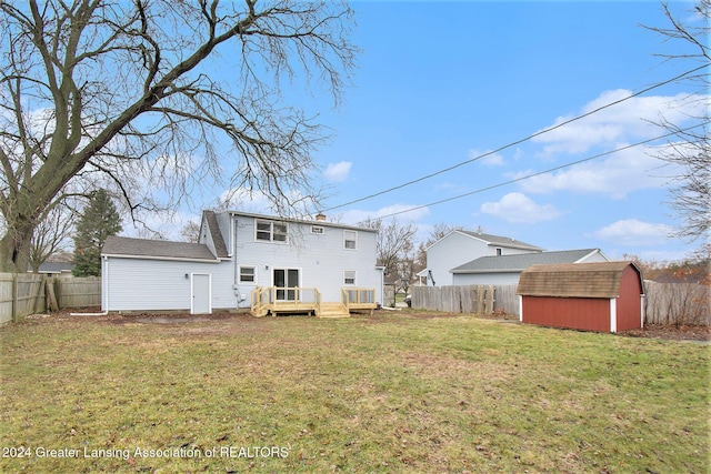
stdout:
[[542,252],[543,249],[515,239],[482,232],[455,230],[427,249],[427,269],[418,273],[428,286],[454,284],[452,269],[482,256]]

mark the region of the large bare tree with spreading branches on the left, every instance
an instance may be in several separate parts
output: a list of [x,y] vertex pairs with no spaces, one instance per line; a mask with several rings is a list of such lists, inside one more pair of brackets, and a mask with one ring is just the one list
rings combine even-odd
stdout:
[[0,16],[0,270],[22,270],[48,212],[99,186],[133,219],[203,177],[284,213],[318,199],[324,134],[283,91],[316,82],[339,103],[357,53],[348,6],[30,0]]

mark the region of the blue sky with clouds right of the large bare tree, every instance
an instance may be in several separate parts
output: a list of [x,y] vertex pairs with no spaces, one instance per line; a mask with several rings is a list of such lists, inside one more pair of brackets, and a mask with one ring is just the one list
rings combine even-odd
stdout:
[[[641,24],[668,27],[658,2],[351,3],[362,49],[338,109],[312,99],[333,139],[314,155],[329,185],[332,220],[397,215],[427,239],[435,224],[512,236],[547,250],[600,248],[613,259],[678,260],[697,245],[668,239],[674,170],[634,147],[535,179],[502,182],[664,133],[660,114],[691,124],[702,113],[671,83],[584,120],[393,192],[343,205],[437,173],[598,107],[663,82],[699,63]],[[673,2],[684,21],[691,2]],[[680,95],[681,94],[681,95]],[[311,99],[309,99],[311,100]],[[659,150],[659,149],[657,149]],[[438,201],[457,198],[449,202]],[[207,204],[206,204],[207,205]],[[248,206],[249,208],[249,206]]]

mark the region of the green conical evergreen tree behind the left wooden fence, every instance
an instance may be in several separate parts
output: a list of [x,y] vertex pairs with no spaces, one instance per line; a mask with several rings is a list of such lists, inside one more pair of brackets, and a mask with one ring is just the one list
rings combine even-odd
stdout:
[[121,232],[121,216],[106,190],[94,191],[77,223],[74,276],[101,274],[101,248],[109,235]]

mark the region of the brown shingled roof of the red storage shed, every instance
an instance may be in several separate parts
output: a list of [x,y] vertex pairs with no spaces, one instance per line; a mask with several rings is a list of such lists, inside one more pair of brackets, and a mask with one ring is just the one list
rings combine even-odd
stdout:
[[515,293],[523,296],[617,297],[622,272],[630,265],[641,275],[632,262],[533,265],[521,273]]

